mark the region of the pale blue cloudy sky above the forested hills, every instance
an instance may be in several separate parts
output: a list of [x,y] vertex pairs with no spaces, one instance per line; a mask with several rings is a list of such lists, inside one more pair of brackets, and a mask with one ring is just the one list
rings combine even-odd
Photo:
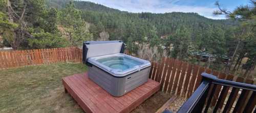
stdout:
[[[222,15],[213,15],[218,8],[214,5],[217,0],[84,0],[107,7],[128,12],[196,12],[212,19],[225,19]],[[223,8],[233,11],[237,6],[247,5],[249,0],[219,0]]]

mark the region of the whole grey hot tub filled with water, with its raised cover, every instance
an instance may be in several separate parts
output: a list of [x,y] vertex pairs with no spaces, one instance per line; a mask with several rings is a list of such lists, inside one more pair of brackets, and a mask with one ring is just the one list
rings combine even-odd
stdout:
[[[119,49],[108,48],[111,47],[110,45],[119,47]],[[102,55],[103,53],[99,53],[100,55],[96,55],[97,49],[95,47],[101,47],[98,52],[112,51],[106,52],[111,54],[104,53]],[[147,60],[123,54],[122,41],[87,41],[83,50],[86,54],[83,54],[83,56],[90,56],[89,58],[83,57],[83,60],[86,60],[84,62],[89,65],[89,78],[111,95],[122,96],[147,82],[151,63]]]

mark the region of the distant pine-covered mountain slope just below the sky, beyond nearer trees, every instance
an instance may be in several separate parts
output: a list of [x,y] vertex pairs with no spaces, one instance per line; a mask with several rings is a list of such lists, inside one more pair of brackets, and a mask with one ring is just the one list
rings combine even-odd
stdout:
[[[48,7],[65,8],[70,0],[48,0]],[[195,38],[198,33],[206,32],[209,29],[226,29],[237,25],[232,20],[209,19],[198,13],[130,13],[109,8],[103,5],[85,1],[74,1],[75,8],[82,11],[82,18],[92,24],[91,32],[95,37],[101,31],[110,33],[112,39],[143,40],[137,37],[147,37],[152,31],[158,36],[174,34],[176,30],[187,28],[191,37]]]

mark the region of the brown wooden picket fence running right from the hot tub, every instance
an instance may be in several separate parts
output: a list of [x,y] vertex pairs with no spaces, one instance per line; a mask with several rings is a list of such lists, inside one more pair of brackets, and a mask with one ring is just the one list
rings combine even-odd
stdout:
[[[254,82],[251,79],[244,79],[242,77],[237,77],[230,74],[227,75],[211,69],[205,69],[204,67],[198,65],[165,57],[162,58],[160,63],[152,62],[150,78],[161,83],[161,90],[163,92],[189,98],[200,85],[202,80],[201,74],[203,72],[217,76],[220,79],[249,84],[253,84]],[[216,103],[221,89],[221,86],[217,86],[212,103]],[[223,97],[227,96],[228,91],[229,90],[225,91]],[[238,94],[239,92],[236,92],[234,95]],[[223,102],[224,100],[222,101],[222,104]]]

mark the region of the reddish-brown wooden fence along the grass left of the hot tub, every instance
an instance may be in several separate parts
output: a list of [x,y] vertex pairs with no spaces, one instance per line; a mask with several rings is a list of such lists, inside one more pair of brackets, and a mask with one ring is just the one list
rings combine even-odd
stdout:
[[81,56],[82,50],[76,47],[3,51],[0,52],[0,69],[65,61],[81,62]]

